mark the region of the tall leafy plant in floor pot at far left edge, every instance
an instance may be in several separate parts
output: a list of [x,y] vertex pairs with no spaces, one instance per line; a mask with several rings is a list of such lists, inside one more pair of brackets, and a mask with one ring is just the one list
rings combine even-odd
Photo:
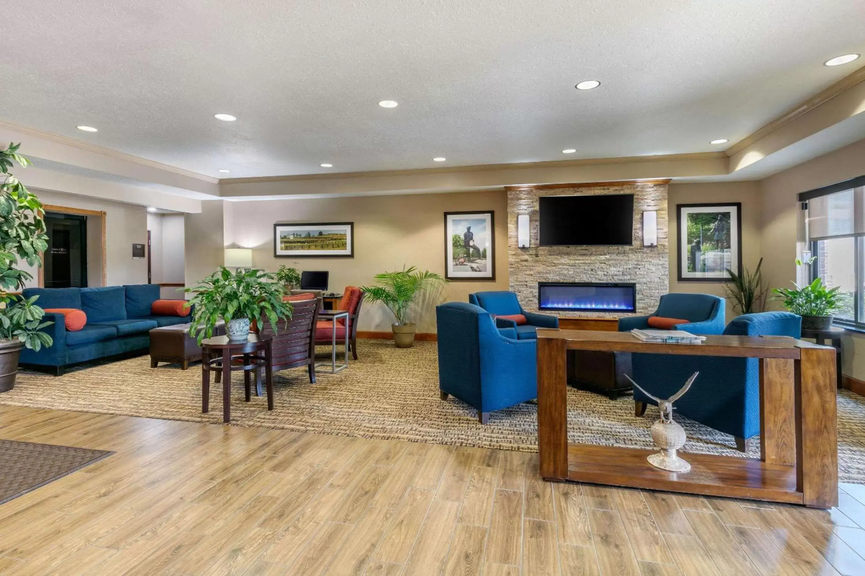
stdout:
[[39,254],[48,248],[42,202],[10,172],[15,163],[22,168],[30,164],[18,154],[19,146],[10,143],[0,150],[0,392],[15,386],[22,347],[38,351],[54,344],[48,334],[40,332],[52,322],[42,322],[45,311],[35,304],[39,296],[24,299],[10,294],[33,279],[26,270],[16,268],[18,261],[42,266]]

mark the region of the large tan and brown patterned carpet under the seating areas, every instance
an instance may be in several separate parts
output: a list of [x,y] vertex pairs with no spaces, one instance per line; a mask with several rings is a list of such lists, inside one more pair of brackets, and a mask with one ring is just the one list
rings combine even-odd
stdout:
[[[465,403],[452,397],[439,400],[435,343],[418,342],[400,350],[387,340],[362,340],[358,351],[360,359],[348,370],[320,373],[316,384],[309,382],[304,369],[275,373],[271,412],[263,396],[244,402],[242,377],[235,372],[232,424],[537,451],[535,404],[494,412],[490,423],[482,426]],[[330,354],[322,359],[330,360]],[[201,394],[198,364],[185,371],[170,364],[152,369],[145,356],[84,365],[62,377],[22,372],[15,389],[0,395],[0,404],[221,423],[221,385],[211,383],[208,414],[202,414]],[[652,446],[649,427],[657,419],[655,407],[637,418],[630,397],[612,402],[571,388],[567,407],[572,442]],[[677,420],[688,433],[685,452],[744,456],[734,449],[732,436],[682,416]],[[865,398],[846,390],[838,396],[838,442],[841,480],[865,483]],[[759,448],[748,455],[759,457]]]

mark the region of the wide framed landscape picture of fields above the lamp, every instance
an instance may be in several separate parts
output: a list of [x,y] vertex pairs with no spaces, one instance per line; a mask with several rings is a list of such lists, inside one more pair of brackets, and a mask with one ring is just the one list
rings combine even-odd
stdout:
[[276,258],[354,258],[355,223],[274,224]]

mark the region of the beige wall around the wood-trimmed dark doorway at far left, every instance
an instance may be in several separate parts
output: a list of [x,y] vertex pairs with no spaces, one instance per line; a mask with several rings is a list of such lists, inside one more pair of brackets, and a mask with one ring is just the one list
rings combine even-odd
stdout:
[[[106,285],[147,282],[147,261],[132,258],[132,244],[147,242],[144,206],[30,188],[42,204],[106,212]],[[98,217],[87,217],[87,283],[102,285],[102,227]]]

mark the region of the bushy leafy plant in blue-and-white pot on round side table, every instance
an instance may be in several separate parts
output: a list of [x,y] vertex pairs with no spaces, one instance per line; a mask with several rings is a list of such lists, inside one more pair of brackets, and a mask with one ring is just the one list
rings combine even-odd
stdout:
[[270,272],[256,269],[232,272],[220,266],[214,274],[185,290],[195,294],[187,306],[193,307],[189,330],[192,333],[195,329],[199,344],[213,336],[219,320],[225,320],[229,340],[244,342],[252,321],[261,326],[263,320],[270,320],[276,330],[279,320],[292,318],[292,305],[282,300],[285,289]]

